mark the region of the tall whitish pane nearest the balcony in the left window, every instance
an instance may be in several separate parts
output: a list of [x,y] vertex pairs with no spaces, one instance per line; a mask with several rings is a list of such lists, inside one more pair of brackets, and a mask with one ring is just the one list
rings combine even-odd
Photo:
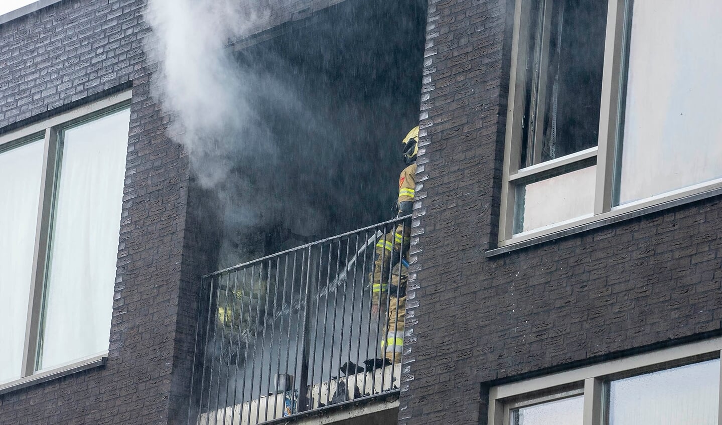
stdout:
[[38,369],[108,350],[129,109],[62,136]]

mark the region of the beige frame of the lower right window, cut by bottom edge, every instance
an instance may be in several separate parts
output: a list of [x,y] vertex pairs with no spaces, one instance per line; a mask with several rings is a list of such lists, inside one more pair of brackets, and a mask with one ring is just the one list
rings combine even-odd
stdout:
[[[553,401],[567,398],[568,388],[583,387],[583,425],[606,425],[605,404],[609,382],[721,358],[722,337],[716,337],[529,380],[497,385],[489,390],[487,424],[508,425],[510,412],[513,409],[538,404],[539,400]],[[722,363],[718,380],[721,382],[718,416],[722,424]]]

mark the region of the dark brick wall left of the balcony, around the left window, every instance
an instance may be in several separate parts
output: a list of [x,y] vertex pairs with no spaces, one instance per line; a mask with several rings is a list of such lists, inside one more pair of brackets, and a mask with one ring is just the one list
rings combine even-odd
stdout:
[[[192,326],[184,255],[189,172],[149,97],[144,1],[60,1],[0,25],[0,131],[132,87],[118,277],[105,367],[0,396],[3,424],[166,424]],[[184,271],[186,270],[186,271]],[[193,312],[192,304],[186,307]],[[181,312],[185,313],[185,311]],[[181,365],[182,366],[182,365]],[[170,415],[170,417],[169,417]]]

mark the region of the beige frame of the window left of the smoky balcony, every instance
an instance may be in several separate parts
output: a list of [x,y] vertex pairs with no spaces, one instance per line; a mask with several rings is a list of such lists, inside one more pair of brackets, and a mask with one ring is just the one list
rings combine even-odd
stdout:
[[[71,128],[86,121],[100,118],[116,110],[128,108],[131,105],[131,97],[132,90],[128,89],[79,108],[74,108],[66,113],[55,115],[30,126],[0,134],[0,152],[9,151],[14,147],[30,141],[43,139],[43,168],[42,175],[40,176],[39,193],[40,202],[38,203],[37,224],[35,227],[22,367],[19,379],[0,384],[0,394],[10,390],[16,390],[20,387],[27,387],[27,385],[32,385],[32,383],[35,382],[44,382],[54,377],[78,372],[87,367],[96,367],[100,364],[105,364],[107,360],[108,351],[106,350],[103,353],[90,354],[82,359],[76,359],[73,362],[61,364],[51,369],[43,369],[42,371],[35,370],[38,361],[40,323],[43,315],[43,295],[48,273],[48,256],[50,255],[51,247],[58,170],[61,166],[61,149],[59,149],[61,133],[66,128]],[[108,335],[108,346],[110,346],[110,335]]]

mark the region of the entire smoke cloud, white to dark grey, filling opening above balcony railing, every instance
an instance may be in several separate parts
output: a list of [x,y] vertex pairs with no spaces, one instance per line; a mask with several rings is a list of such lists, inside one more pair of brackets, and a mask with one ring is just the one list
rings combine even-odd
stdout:
[[[398,71],[407,46],[394,50],[401,42],[392,37],[388,47],[382,33],[367,38],[380,17],[366,1],[323,19],[311,15],[339,0],[310,2],[308,10],[298,8],[309,2],[295,0],[147,1],[152,31],[144,48],[158,66],[152,97],[170,115],[168,136],[183,144],[193,177],[212,198],[207,205],[218,219],[204,216],[222,233],[217,268],[388,214],[377,190],[383,180],[393,196],[386,182],[396,179],[381,165],[388,161],[378,161],[396,152],[387,149],[386,129],[400,139],[408,124],[396,126],[396,115],[409,121],[417,112],[405,112],[413,79]],[[398,38],[413,28],[404,22],[382,27]],[[375,56],[392,62],[377,66]],[[386,77],[389,64],[397,72]],[[363,199],[358,205],[350,202],[356,197]]]

